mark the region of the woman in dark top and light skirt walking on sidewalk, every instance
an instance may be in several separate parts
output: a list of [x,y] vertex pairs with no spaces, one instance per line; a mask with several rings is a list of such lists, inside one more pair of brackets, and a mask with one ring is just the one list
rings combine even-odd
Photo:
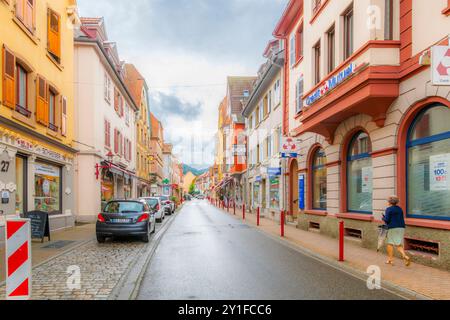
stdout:
[[405,236],[405,217],[403,210],[398,206],[400,200],[397,196],[391,196],[388,199],[388,208],[383,216],[383,221],[388,226],[388,234],[386,238],[388,261],[386,264],[394,265],[394,247],[403,257],[405,265],[408,267],[411,264],[411,258],[405,253],[403,247],[403,240]]

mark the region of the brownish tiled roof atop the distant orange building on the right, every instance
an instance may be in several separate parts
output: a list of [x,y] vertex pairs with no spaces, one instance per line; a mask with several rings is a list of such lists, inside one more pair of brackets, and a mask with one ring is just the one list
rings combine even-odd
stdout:
[[[228,77],[228,108],[231,108],[231,115],[241,115],[243,110],[244,91],[251,92],[256,77]],[[228,110],[227,110],[228,111]]]

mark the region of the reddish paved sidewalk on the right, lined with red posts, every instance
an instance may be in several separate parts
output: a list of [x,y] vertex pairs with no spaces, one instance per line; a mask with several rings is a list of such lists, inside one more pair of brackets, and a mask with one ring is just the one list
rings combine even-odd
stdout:
[[[225,210],[226,211],[226,210]],[[228,214],[233,215],[233,209]],[[242,220],[242,209],[236,209],[236,219]],[[246,213],[246,223],[256,227],[256,214]],[[385,264],[386,256],[373,250],[365,249],[351,241],[345,242],[345,262],[338,264],[338,240],[319,233],[303,231],[293,225],[285,226],[285,238],[280,238],[280,225],[277,221],[261,218],[259,230],[294,245],[306,249],[333,261],[333,265],[351,269],[365,274],[371,265],[381,268],[382,281],[413,291],[430,299],[450,299],[450,272],[414,263],[405,267],[403,261],[396,259],[395,266]],[[334,263],[336,262],[336,263]]]

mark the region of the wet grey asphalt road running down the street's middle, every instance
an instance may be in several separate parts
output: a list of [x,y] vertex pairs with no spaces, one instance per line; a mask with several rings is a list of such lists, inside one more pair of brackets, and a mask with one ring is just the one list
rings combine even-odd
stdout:
[[138,299],[398,299],[219,211],[187,202],[163,236]]

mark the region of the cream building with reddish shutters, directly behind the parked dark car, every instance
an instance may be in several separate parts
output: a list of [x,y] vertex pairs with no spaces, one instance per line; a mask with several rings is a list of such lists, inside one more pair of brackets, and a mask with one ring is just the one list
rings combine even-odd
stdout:
[[137,195],[136,113],[117,45],[103,18],[82,18],[75,35],[77,220],[95,221],[111,199]]

